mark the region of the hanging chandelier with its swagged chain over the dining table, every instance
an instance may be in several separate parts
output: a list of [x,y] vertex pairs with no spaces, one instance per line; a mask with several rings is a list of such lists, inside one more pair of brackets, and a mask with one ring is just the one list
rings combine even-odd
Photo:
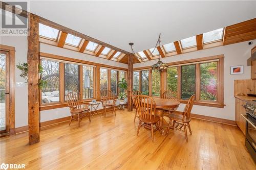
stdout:
[[[130,43],[129,43],[129,45],[131,45],[131,49],[132,49],[133,55],[134,55],[136,58],[138,58],[138,59],[140,59],[140,60],[142,60],[142,61],[145,60],[145,59],[143,59],[143,58],[141,58],[141,57],[138,57],[138,56],[134,53],[133,47],[132,47],[133,44],[134,44],[133,42],[130,42]],[[151,54],[150,54],[149,56],[153,56],[152,54],[153,54],[154,51],[156,50],[157,46],[161,46],[161,33],[159,33],[159,38],[158,38],[158,40],[157,40],[156,46],[154,47],[154,50],[151,52]],[[165,64],[165,63],[163,63],[163,62],[161,61],[161,57],[160,57],[160,54],[159,54],[158,62],[157,62],[156,64],[152,65],[152,69],[153,69],[155,72],[158,72],[158,71],[159,71],[159,72],[162,72],[163,70],[165,70],[165,69],[167,69],[167,68],[168,68],[168,65]]]

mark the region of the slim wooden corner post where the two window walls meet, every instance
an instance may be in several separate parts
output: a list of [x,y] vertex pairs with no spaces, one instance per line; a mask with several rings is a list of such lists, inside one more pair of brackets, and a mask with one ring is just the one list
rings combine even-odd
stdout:
[[128,58],[128,71],[127,71],[127,110],[133,111],[133,101],[132,101],[132,92],[133,92],[133,55],[130,55]]

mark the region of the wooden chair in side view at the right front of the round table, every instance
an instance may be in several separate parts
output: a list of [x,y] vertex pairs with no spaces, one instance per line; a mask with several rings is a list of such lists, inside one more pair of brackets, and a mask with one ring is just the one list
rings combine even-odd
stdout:
[[[196,98],[196,94],[194,94],[190,97],[190,99],[188,100],[187,105],[184,109],[184,112],[182,112],[182,114],[180,114],[177,111],[174,111],[174,112],[172,112],[172,114],[169,115],[170,121],[168,124],[167,134],[168,134],[170,128],[176,129],[176,130],[184,132],[186,141],[188,141],[186,127],[188,127],[190,134],[192,134],[189,122],[191,121],[190,112],[194,105],[195,98]],[[170,126],[172,124],[172,122],[173,122],[173,125]],[[184,130],[182,130],[182,128],[184,128]]]

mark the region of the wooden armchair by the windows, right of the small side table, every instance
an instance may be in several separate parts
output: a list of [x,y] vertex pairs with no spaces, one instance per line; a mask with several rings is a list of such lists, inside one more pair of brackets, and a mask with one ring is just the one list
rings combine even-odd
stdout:
[[111,112],[113,114],[113,111],[115,113],[116,116],[116,100],[114,99],[113,93],[111,90],[101,90],[100,91],[100,96],[101,96],[101,103],[102,103],[102,107],[104,109],[104,116],[106,117],[106,109],[110,108]]

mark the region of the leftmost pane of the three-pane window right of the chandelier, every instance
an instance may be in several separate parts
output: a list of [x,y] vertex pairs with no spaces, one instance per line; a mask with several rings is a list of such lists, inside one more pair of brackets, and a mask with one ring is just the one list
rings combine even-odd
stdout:
[[177,92],[178,87],[178,68],[169,67],[167,68],[167,90],[173,90]]

